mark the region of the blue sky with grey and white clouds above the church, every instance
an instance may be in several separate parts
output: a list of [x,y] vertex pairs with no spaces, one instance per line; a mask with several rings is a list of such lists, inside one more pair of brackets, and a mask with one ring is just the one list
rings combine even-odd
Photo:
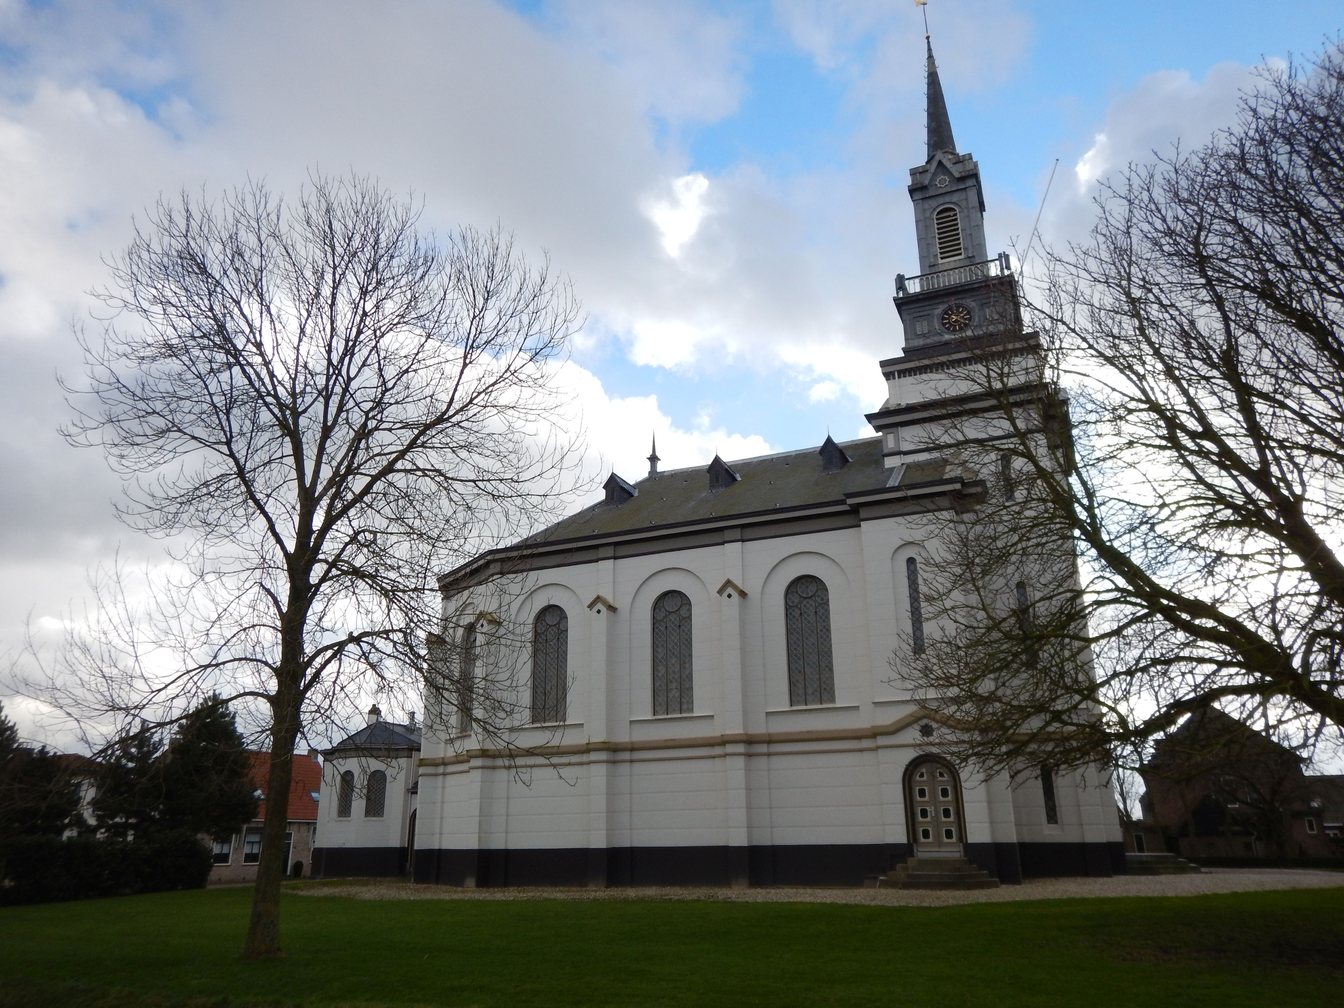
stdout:
[[[0,652],[151,555],[65,445],[85,292],[160,194],[309,168],[512,230],[589,313],[573,375],[603,465],[867,431],[914,271],[923,28],[910,0],[0,0]],[[1336,3],[931,0],[991,251],[1086,228],[1095,180],[1231,121]],[[3,694],[3,684],[0,684]],[[22,704],[11,704],[24,720]]]

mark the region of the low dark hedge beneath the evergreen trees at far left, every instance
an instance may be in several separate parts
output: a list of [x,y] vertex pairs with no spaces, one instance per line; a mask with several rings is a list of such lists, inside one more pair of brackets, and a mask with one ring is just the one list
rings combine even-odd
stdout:
[[211,862],[210,848],[188,832],[16,837],[0,843],[0,905],[204,888]]

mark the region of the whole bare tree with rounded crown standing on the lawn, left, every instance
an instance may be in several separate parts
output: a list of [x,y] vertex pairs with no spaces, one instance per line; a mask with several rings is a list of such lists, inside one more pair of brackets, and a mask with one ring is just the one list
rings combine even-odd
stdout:
[[[433,681],[435,574],[563,505],[577,458],[555,371],[578,309],[499,230],[437,241],[360,177],[314,176],[294,203],[262,183],[161,200],[109,265],[114,314],[83,341],[66,435],[103,449],[121,517],[168,536],[173,564],[138,595],[103,582],[47,696],[155,724],[210,694],[259,711],[245,956],[277,956],[296,739]],[[515,714],[461,716],[489,735]]]

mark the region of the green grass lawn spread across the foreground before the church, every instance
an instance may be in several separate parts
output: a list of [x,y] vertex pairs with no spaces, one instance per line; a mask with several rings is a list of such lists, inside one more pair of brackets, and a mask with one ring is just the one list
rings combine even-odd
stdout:
[[1344,888],[945,909],[286,894],[284,961],[238,958],[246,888],[0,910],[0,1008],[168,1005],[1321,1005]]

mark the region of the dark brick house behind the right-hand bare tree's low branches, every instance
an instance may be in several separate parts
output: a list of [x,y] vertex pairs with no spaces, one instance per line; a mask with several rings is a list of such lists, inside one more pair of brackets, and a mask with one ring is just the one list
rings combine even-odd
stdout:
[[1344,775],[1218,710],[1191,715],[1140,771],[1140,817],[1125,848],[1181,857],[1344,856]]

